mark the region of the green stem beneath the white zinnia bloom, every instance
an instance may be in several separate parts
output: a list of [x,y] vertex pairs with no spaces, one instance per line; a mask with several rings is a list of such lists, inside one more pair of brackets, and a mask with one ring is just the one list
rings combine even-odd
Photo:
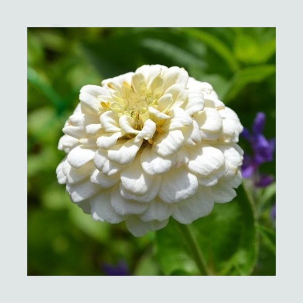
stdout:
[[176,221],[176,223],[177,223],[182,235],[184,236],[184,238],[187,241],[187,244],[190,248],[193,258],[195,259],[195,261],[197,263],[197,266],[200,270],[201,275],[208,276],[209,273],[207,270],[207,265],[206,265],[204,255],[202,253],[202,250],[197,242],[197,239],[196,239],[192,229],[190,228],[189,225],[180,224],[177,221]]

